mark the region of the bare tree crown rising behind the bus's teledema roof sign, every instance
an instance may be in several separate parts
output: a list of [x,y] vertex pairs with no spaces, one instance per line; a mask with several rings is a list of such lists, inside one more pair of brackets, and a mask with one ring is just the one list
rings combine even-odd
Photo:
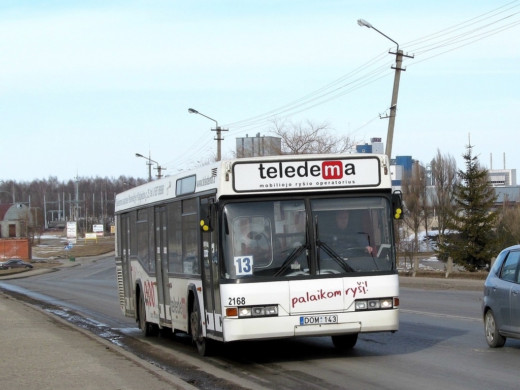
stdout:
[[344,153],[357,144],[350,135],[336,135],[327,121],[275,121],[270,133],[282,139],[282,154]]

